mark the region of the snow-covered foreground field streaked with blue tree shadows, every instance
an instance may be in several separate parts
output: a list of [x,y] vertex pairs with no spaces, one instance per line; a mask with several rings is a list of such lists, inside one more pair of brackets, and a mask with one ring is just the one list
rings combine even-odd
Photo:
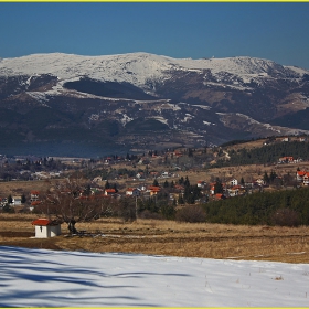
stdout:
[[0,307],[309,307],[309,265],[0,247]]

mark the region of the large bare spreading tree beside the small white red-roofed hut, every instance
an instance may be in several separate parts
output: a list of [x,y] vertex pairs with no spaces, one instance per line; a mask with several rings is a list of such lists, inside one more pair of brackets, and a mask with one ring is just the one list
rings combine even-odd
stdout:
[[46,192],[41,210],[49,217],[67,223],[70,232],[76,234],[75,224],[104,215],[108,211],[108,201],[103,195],[92,194],[79,179],[66,179]]

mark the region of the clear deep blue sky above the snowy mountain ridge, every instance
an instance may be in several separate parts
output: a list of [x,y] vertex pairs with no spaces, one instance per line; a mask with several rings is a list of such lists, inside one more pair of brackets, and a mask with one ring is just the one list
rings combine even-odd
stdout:
[[1,2],[0,42],[0,57],[148,52],[309,68],[309,2]]

